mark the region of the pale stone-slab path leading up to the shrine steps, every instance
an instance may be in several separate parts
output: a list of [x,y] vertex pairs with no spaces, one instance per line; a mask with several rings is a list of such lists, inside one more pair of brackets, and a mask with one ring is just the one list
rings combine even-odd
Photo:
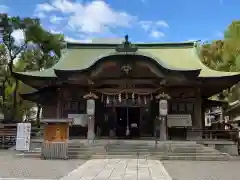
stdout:
[[158,160],[93,159],[60,180],[172,180],[172,178]]

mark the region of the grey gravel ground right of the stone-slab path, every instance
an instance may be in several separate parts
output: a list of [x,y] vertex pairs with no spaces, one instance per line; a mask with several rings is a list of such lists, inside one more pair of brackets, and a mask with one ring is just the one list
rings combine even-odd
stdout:
[[173,180],[239,180],[240,161],[161,161]]

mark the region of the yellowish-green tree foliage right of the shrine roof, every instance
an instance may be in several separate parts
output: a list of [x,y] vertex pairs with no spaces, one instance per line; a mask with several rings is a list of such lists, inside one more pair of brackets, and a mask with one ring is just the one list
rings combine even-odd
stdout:
[[[200,57],[205,65],[214,70],[240,71],[240,21],[233,21],[224,33],[222,40],[205,43],[201,46]],[[224,92],[229,100],[240,99],[240,85]]]

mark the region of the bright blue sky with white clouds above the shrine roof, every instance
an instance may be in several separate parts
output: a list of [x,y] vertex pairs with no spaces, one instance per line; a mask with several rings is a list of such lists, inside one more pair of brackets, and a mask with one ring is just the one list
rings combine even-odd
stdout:
[[39,17],[76,42],[125,34],[135,42],[220,39],[240,19],[239,7],[239,0],[0,0],[1,12]]

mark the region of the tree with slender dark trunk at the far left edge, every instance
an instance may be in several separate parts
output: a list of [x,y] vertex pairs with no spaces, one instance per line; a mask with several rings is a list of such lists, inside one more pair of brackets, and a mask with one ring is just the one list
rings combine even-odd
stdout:
[[[39,26],[40,23],[36,19],[31,18],[23,18],[21,19],[18,16],[9,17],[7,14],[0,14],[0,32],[2,41],[1,44],[6,49],[6,60],[7,60],[7,73],[10,73],[11,77],[13,69],[14,69],[14,62],[17,57],[26,50],[28,46],[29,39],[25,38],[22,42],[17,42],[16,39],[13,37],[14,32],[22,31],[25,34],[34,33],[31,29],[34,26]],[[28,35],[30,36],[30,35]],[[13,79],[13,78],[12,78]],[[8,87],[9,88],[9,87]],[[13,88],[13,104],[12,104],[12,115],[17,112],[17,89],[18,89],[18,81],[12,82]],[[12,118],[13,118],[12,117]]]

